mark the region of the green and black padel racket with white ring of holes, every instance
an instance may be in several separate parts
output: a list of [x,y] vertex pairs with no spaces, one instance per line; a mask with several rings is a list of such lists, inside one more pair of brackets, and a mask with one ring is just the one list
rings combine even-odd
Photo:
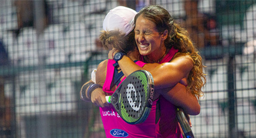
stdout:
[[153,96],[152,75],[148,71],[139,70],[127,76],[112,96],[106,96],[106,100],[126,123],[140,124],[150,113]]

